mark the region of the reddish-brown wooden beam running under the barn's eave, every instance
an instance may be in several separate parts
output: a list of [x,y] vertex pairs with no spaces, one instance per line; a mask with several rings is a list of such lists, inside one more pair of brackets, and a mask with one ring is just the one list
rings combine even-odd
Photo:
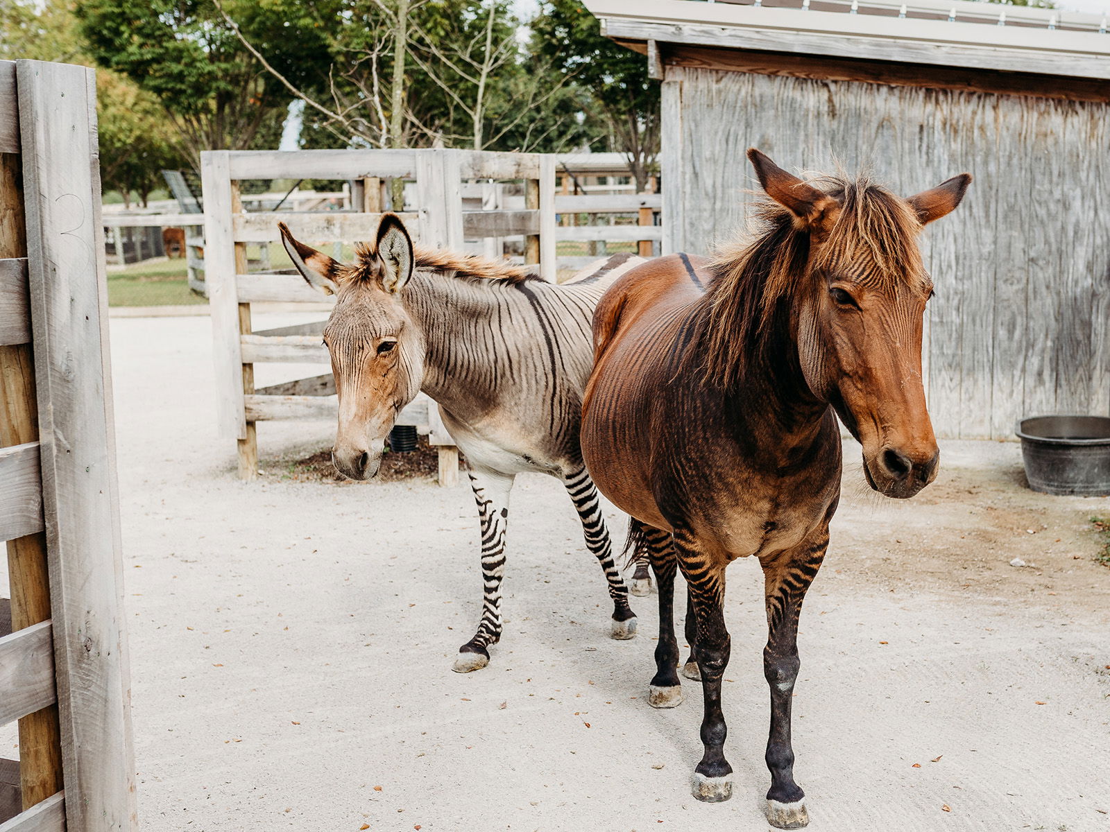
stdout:
[[1031,95],[1064,101],[1110,101],[1110,85],[1089,78],[1052,78],[1027,72],[970,70],[948,67],[861,61],[850,58],[785,54],[708,47],[674,47],[668,67],[754,72],[761,75],[809,78],[821,81],[860,81],[890,87]]

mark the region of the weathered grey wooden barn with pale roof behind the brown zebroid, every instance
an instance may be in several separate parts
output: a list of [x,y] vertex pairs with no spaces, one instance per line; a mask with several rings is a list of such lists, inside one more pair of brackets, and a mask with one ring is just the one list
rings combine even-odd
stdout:
[[1110,415],[1110,34],[985,2],[585,0],[663,81],[665,252],[741,226],[744,158],[869,166],[902,194],[975,175],[924,247],[939,436]]

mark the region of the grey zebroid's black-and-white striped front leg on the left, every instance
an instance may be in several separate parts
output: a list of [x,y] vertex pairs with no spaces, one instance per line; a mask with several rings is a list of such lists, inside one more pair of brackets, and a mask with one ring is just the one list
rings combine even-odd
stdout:
[[501,640],[501,580],[505,574],[505,527],[514,476],[470,473],[482,529],[482,621],[474,638],[458,648],[453,670],[466,673],[490,663],[490,645]]

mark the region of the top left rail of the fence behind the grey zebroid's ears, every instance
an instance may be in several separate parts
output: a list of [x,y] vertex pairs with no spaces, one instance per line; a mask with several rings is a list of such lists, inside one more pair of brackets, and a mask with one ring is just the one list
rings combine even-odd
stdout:
[[[327,179],[406,176],[416,154],[397,150],[239,150],[229,158],[231,179]],[[206,203],[205,203],[206,204]]]

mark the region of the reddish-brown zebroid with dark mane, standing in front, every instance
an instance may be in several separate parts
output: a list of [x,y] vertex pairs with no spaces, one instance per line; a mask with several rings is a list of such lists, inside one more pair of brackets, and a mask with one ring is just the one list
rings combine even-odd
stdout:
[[796,635],[839,499],[836,417],[862,445],[874,489],[912,497],[932,481],[938,450],[921,386],[932,283],[917,239],[971,177],[900,199],[866,177],[816,187],[756,150],[748,158],[770,197],[753,239],[712,261],[680,254],[638,266],[598,304],[582,443],[594,481],[633,518],[630,541],[650,552],[659,641],[649,701],[659,708],[682,701],[676,568],[688,585],[684,674],[702,679],[705,700],[699,800],[731,795],[725,568],[759,559],[768,818],[796,829],[808,822],[790,747]]

